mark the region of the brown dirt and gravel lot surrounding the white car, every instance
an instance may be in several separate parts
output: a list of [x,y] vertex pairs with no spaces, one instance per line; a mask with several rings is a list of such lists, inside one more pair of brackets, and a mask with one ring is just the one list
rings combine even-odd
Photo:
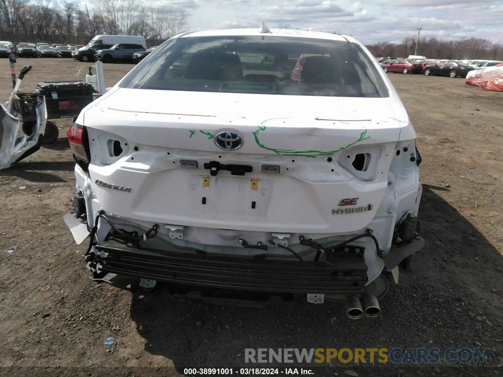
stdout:
[[[26,64],[33,65],[23,81],[27,91],[39,81],[83,79],[81,67],[90,65],[19,59],[18,70]],[[131,68],[106,65],[107,85]],[[339,303],[237,308],[96,284],[83,264],[86,246],[74,244],[62,220],[75,182],[68,123],[61,122],[55,144],[0,172],[1,373],[179,375],[186,367],[249,366],[244,348],[288,346],[490,347],[489,366],[337,361],[313,369],[324,376],[346,370],[360,376],[501,375],[503,93],[462,79],[390,78],[418,133],[427,246],[381,301],[381,317],[350,322]],[[0,99],[10,91],[5,59]],[[109,336],[116,343],[105,346]]]

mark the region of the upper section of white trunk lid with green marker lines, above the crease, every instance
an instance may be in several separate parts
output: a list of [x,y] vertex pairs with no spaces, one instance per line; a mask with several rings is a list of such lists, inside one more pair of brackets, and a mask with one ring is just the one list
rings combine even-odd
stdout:
[[408,119],[389,103],[120,88],[84,119],[90,127],[150,146],[216,152],[217,133],[231,131],[243,139],[234,153],[329,155],[356,144],[397,141]]

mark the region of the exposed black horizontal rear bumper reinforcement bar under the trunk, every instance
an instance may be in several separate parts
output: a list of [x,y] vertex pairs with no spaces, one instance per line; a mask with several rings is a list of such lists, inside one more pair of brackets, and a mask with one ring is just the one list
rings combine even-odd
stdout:
[[367,282],[363,253],[330,261],[257,259],[138,249],[111,240],[95,245],[88,261],[115,273],[181,285],[255,292],[360,294]]

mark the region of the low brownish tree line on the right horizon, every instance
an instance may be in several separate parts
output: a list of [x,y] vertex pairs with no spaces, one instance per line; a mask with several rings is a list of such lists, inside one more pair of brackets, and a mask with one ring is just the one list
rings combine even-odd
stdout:
[[401,43],[379,42],[366,46],[375,57],[426,56],[429,59],[483,59],[502,60],[503,46],[482,38],[462,38],[444,41],[435,37],[420,38],[417,54],[414,54],[417,39],[407,37]]

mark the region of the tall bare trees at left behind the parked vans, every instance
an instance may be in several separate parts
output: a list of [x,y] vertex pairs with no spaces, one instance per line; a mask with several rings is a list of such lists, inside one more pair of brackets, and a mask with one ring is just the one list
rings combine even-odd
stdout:
[[68,0],[0,0],[0,40],[14,44],[87,44],[96,35],[113,34],[142,35],[158,45],[187,27],[186,14],[139,0],[92,0],[89,7]]

